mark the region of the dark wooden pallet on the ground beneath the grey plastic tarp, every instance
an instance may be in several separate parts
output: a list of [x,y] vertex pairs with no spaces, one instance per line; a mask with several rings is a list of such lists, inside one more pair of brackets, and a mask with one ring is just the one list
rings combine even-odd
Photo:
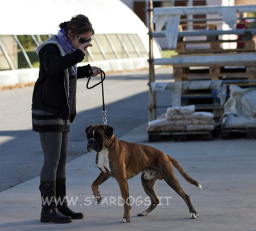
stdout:
[[232,138],[256,138],[256,128],[221,128],[224,140]]

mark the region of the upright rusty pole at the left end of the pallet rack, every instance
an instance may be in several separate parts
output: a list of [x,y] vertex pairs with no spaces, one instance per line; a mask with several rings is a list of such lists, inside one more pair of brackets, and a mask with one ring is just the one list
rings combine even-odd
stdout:
[[152,37],[152,32],[154,31],[153,24],[153,2],[148,1],[148,37],[149,37],[149,52],[148,52],[148,62],[149,62],[149,73],[148,73],[148,116],[149,121],[156,119],[156,95],[155,91],[152,91],[150,83],[155,82],[155,68],[154,68],[154,55],[153,55],[153,43],[154,39]]

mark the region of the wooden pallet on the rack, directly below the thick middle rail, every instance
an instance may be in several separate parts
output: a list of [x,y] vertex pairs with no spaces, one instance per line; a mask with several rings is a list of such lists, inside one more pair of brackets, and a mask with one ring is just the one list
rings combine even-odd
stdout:
[[[195,80],[224,80],[229,85],[229,81],[236,83],[251,84],[256,78],[255,63],[229,64],[229,65],[174,65],[175,81],[195,81]],[[247,81],[247,82],[246,82]],[[251,82],[250,82],[251,81]],[[246,82],[246,83],[245,83]]]

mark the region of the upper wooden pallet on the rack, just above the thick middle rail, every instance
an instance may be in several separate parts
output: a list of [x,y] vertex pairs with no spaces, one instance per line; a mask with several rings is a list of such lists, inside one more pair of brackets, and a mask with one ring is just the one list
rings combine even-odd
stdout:
[[[237,49],[222,49],[223,43],[243,43],[243,48]],[[188,45],[201,45],[207,44],[208,46],[203,48],[187,48]],[[255,42],[254,40],[217,40],[217,41],[181,41],[177,43],[175,52],[179,54],[188,53],[226,53],[226,52],[254,52]]]

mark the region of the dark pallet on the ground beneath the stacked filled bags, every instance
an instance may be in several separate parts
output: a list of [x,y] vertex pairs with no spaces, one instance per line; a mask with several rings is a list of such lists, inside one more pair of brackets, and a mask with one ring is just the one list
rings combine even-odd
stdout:
[[180,132],[148,132],[148,142],[160,140],[187,141],[187,140],[213,140],[214,131],[180,131]]

